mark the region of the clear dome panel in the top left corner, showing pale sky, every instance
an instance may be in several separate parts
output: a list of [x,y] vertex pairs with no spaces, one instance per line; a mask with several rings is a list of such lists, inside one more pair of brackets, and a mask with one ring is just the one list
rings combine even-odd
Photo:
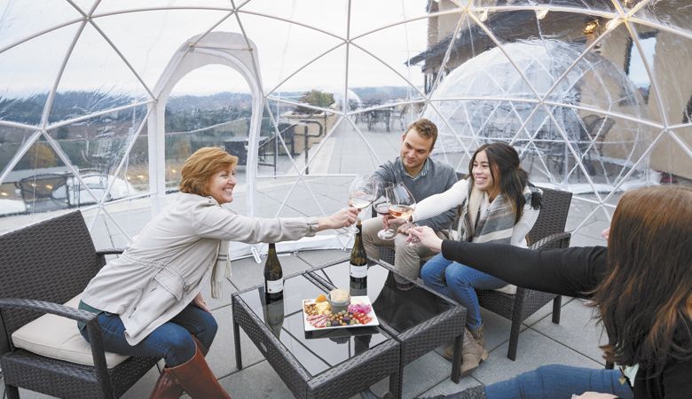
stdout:
[[0,52],[39,32],[82,19],[82,14],[69,3],[52,0],[3,2],[0,15]]

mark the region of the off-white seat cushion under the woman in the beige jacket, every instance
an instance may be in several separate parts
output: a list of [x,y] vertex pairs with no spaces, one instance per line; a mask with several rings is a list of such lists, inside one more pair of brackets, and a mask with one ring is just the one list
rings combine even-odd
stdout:
[[[65,304],[77,308],[82,294]],[[65,360],[67,362],[93,366],[89,342],[79,333],[77,322],[67,317],[43,315],[28,325],[22,326],[12,334],[12,343],[17,348],[26,349],[37,355]],[[130,356],[106,352],[106,365],[109,369],[121,364]]]

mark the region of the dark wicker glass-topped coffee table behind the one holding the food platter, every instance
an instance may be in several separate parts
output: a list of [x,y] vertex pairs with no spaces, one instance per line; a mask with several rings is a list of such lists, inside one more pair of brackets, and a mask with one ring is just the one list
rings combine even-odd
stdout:
[[[327,288],[350,286],[349,260],[332,262],[310,270],[310,274]],[[429,351],[454,341],[452,381],[459,383],[460,356],[466,309],[449,298],[413,282],[402,289],[394,279],[395,271],[385,262],[369,262],[367,286],[356,294],[367,295],[381,327],[401,342],[401,370],[396,384],[390,379],[389,389],[401,396],[403,369],[406,364]],[[351,294],[354,293],[351,287]]]

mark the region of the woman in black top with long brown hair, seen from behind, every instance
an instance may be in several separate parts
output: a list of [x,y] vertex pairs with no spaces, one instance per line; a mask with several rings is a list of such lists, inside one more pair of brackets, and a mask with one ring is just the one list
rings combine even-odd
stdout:
[[[449,259],[531,289],[590,299],[617,370],[548,365],[453,397],[688,398],[692,394],[692,189],[649,187],[617,205],[608,247],[542,252],[442,241],[410,230]],[[506,265],[511,264],[511,268]],[[602,393],[598,395],[596,393]],[[607,394],[607,395],[604,395]]]

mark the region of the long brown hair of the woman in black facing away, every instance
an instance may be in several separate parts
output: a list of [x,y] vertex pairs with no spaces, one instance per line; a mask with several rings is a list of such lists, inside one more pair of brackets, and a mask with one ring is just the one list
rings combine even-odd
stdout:
[[[641,364],[655,374],[671,360],[692,358],[692,189],[626,192],[610,224],[608,273],[594,306],[608,332],[606,360]],[[687,347],[680,345],[686,337]],[[676,343],[678,342],[678,343]]]

